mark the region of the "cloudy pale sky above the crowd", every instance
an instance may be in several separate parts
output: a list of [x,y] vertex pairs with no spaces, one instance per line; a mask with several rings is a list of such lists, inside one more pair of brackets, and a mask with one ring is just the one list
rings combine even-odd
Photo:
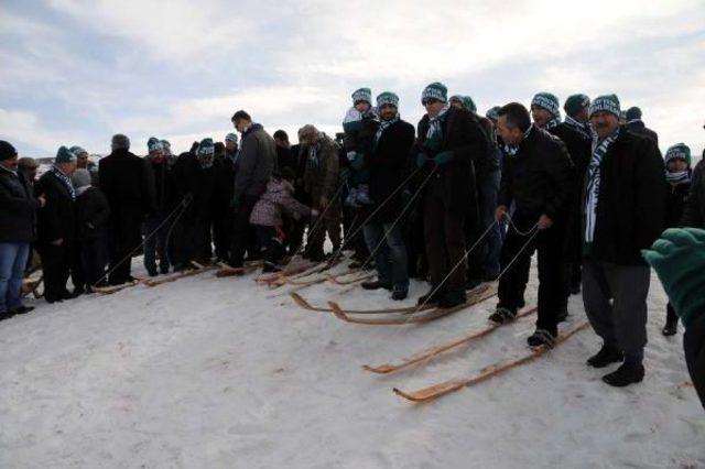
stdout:
[[[270,133],[330,133],[368,86],[416,123],[431,81],[480,112],[538,91],[639,106],[661,149],[705,145],[705,1],[0,0],[0,139],[185,151],[246,109]],[[294,134],[292,134],[294,133]],[[699,160],[699,157],[697,157]]]

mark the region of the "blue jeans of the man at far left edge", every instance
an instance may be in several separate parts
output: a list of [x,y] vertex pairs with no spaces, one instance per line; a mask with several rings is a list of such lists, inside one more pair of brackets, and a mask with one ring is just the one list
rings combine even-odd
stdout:
[[22,279],[29,242],[0,242],[0,313],[22,306]]

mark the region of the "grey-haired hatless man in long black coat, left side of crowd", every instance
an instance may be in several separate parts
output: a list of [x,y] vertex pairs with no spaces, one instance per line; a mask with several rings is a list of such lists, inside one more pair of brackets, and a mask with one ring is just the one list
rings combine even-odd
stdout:
[[130,139],[112,137],[112,153],[100,160],[100,190],[110,204],[109,251],[111,285],[133,280],[132,251],[142,243],[142,221],[154,206],[154,175],[139,156],[130,153]]

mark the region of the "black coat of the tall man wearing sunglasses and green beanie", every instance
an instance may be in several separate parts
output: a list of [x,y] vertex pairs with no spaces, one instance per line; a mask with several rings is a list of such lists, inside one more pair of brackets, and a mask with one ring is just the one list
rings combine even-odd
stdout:
[[[443,142],[438,153],[452,151],[453,160],[440,166],[431,177],[441,179],[444,187],[444,204],[453,214],[467,214],[477,211],[477,183],[475,179],[475,164],[489,156],[489,142],[477,117],[465,109],[449,108],[442,124]],[[423,144],[429,132],[429,116],[424,116],[419,122],[419,137],[412,149],[412,164],[419,153],[429,154]],[[422,179],[425,179],[433,168],[429,162],[424,166]]]

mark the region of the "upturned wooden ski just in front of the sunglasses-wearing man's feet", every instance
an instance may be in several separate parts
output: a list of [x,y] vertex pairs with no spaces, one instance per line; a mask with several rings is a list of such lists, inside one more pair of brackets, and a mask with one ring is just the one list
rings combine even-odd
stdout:
[[[416,308],[413,308],[410,313],[406,313],[406,314],[394,314],[386,317],[373,317],[373,318],[356,317],[355,315],[359,313],[344,312],[334,302],[328,302],[328,305],[330,305],[330,308],[333,309],[333,314],[338,319],[345,320],[346,323],[365,324],[369,326],[403,326],[405,324],[429,323],[440,317],[447,316],[449,314],[459,312],[460,309],[465,309],[467,307],[476,305],[480,302],[484,302],[485,299],[491,298],[495,295],[497,295],[497,287],[487,285],[487,286],[482,286],[474,290],[473,293],[469,294],[469,297],[465,303],[462,303],[457,306],[453,306],[451,308],[434,307],[433,309],[429,309],[429,310],[420,309],[417,313],[416,313]],[[366,312],[364,314],[367,315],[370,313]]]

